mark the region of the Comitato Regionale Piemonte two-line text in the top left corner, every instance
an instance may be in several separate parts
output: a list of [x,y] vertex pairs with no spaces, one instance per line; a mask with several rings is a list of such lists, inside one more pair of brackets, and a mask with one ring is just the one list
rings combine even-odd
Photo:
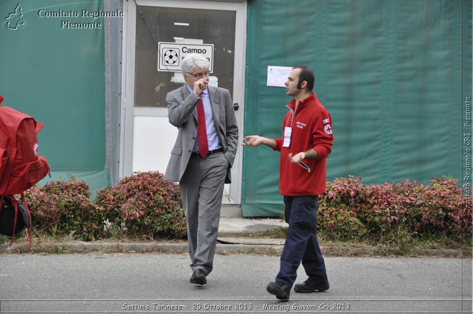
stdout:
[[[88,11],[88,10],[80,10],[80,11],[46,11],[41,9],[38,11],[39,17],[44,18],[64,18],[64,17],[83,17],[83,18],[91,18],[96,20],[99,17],[123,17],[123,11],[115,10],[115,11]],[[97,21],[90,21],[90,22],[75,22],[69,20],[61,20],[60,28],[102,28],[102,24]]]

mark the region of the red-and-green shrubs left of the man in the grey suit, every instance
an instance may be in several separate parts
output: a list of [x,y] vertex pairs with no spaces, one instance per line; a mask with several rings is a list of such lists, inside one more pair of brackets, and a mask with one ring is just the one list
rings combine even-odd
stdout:
[[187,234],[178,184],[158,172],[135,173],[101,190],[95,202],[82,180],[50,181],[25,192],[35,227],[51,236],[81,240],[104,237],[105,229],[138,236],[182,238]]

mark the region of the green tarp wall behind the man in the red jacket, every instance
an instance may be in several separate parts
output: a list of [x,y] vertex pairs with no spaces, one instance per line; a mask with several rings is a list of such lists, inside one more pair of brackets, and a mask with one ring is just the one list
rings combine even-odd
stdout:
[[[327,181],[461,179],[462,17],[471,36],[471,6],[461,0],[248,1],[245,135],[282,135],[291,98],[283,87],[266,86],[267,66],[307,64],[315,72],[314,92],[333,118]],[[471,54],[469,60],[464,70],[471,73]],[[279,216],[279,153],[245,147],[244,158],[243,215]]]

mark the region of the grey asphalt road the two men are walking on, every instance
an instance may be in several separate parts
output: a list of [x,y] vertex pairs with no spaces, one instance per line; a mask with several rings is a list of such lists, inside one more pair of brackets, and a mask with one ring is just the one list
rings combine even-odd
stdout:
[[[182,254],[0,254],[1,313],[472,313],[472,260],[325,258],[330,289],[280,302],[279,257],[216,255],[204,286]],[[297,282],[306,279],[302,267]]]

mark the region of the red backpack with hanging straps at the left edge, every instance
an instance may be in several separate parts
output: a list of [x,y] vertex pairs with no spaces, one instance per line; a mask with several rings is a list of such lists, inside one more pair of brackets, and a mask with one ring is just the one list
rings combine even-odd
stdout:
[[[0,95],[0,103],[3,96]],[[20,194],[29,216],[29,237],[31,249],[31,214],[23,192],[43,179],[49,172],[46,157],[38,156],[36,133],[43,127],[35,118],[10,107],[0,107],[0,209],[7,197],[15,207],[17,225],[18,204],[15,194]],[[51,174],[50,174],[51,176]],[[13,236],[11,243],[13,243]]]

